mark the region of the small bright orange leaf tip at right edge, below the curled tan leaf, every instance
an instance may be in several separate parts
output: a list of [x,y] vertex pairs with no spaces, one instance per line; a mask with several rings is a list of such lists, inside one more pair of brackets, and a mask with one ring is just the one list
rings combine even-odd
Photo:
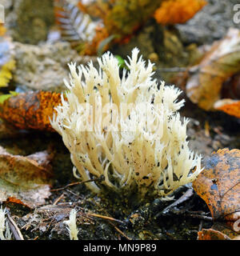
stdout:
[[214,103],[215,110],[221,110],[226,114],[230,114],[236,118],[240,118],[240,100],[224,98]]

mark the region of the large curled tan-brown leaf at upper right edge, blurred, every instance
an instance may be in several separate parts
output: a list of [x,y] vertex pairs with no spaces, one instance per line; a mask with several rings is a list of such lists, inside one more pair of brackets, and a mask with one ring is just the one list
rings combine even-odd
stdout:
[[226,37],[214,42],[198,66],[190,68],[186,94],[204,110],[214,110],[221,98],[223,82],[240,70],[240,30],[230,28]]

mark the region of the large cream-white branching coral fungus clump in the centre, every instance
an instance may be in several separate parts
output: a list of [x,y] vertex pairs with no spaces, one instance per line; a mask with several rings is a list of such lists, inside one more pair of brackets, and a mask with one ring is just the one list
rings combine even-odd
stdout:
[[[55,110],[52,126],[62,135],[82,180],[92,177],[114,190],[137,188],[166,196],[201,172],[201,157],[186,142],[187,120],[180,121],[181,91],[152,78],[153,64],[132,57],[119,74],[109,52],[99,70],[71,63],[68,92]],[[76,169],[75,169],[76,171]],[[99,186],[86,183],[98,193]],[[151,191],[151,192],[150,192]]]

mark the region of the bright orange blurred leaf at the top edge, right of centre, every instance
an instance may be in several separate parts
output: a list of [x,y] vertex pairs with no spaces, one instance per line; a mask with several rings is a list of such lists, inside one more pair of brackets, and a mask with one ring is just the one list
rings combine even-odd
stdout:
[[185,23],[206,6],[206,3],[205,0],[164,1],[155,11],[154,18],[163,25]]

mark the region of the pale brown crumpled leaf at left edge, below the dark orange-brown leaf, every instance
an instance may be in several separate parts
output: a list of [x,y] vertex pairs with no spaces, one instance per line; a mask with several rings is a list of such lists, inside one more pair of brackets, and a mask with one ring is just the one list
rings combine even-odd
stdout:
[[51,158],[46,151],[23,157],[0,147],[0,201],[15,198],[30,207],[44,203],[50,196]]

